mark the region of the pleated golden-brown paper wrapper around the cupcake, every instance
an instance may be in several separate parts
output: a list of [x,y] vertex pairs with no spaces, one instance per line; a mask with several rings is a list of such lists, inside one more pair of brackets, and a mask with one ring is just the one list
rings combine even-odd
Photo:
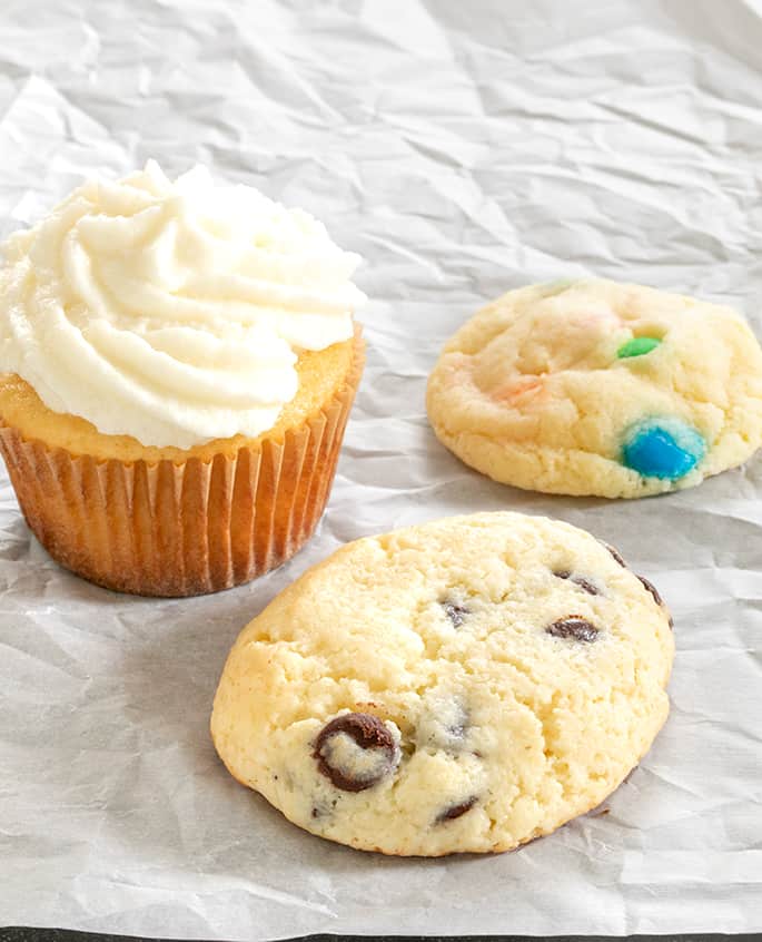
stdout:
[[355,338],[342,392],[281,442],[182,463],[72,455],[0,423],[0,451],[21,510],[50,556],[122,592],[217,592],[274,569],[323,514],[363,372]]

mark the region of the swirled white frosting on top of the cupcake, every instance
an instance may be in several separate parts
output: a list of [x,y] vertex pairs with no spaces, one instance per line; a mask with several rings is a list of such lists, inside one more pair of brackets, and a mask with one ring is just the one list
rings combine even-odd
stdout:
[[86,183],[2,252],[0,371],[144,445],[266,432],[365,300],[321,223],[204,167]]

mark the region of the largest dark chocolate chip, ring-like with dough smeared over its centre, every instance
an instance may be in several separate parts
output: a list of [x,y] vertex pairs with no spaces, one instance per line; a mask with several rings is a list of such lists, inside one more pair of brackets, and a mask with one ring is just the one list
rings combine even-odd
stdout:
[[[333,740],[345,734],[363,750],[377,753],[378,762],[370,771],[354,774],[344,762],[342,765],[331,757]],[[389,775],[399,763],[399,749],[387,727],[369,713],[345,713],[323,727],[315,740],[314,757],[318,769],[331,783],[344,792],[363,792],[377,785]]]

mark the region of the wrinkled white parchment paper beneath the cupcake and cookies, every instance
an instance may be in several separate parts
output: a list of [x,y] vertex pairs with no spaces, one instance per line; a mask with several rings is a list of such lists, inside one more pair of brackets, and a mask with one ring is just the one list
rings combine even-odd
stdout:
[[[4,0],[0,235],[157,157],[311,210],[365,256],[369,361],[328,512],[211,598],[59,569],[0,485],[0,923],[308,932],[762,930],[762,459],[634,503],[521,493],[427,428],[444,340],[528,282],[597,273],[762,327],[762,3]],[[519,853],[386,860],[238,786],[207,735],[239,628],[347,540],[547,513],[618,546],[676,621],[673,712],[587,816]],[[394,822],[389,822],[394,826]]]

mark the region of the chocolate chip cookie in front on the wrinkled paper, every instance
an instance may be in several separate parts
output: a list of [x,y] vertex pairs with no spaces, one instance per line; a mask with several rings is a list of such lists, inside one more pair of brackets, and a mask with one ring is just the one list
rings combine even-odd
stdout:
[[349,543],[234,646],[211,733],[323,837],[505,851],[600,804],[664,723],[670,617],[590,533],[518,513]]

